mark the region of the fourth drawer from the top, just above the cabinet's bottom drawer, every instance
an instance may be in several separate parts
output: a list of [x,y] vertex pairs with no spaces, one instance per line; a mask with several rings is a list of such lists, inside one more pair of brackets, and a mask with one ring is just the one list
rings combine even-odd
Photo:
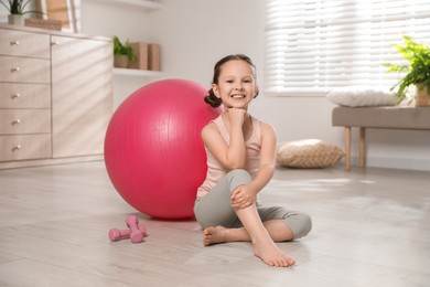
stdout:
[[51,132],[51,109],[0,109],[0,135]]

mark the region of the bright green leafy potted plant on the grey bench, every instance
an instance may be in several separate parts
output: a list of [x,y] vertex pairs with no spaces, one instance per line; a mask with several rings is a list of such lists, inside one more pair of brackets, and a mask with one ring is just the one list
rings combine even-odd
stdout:
[[411,85],[416,86],[416,106],[430,105],[430,49],[426,43],[418,43],[412,38],[402,36],[405,45],[394,44],[409,63],[404,65],[395,65],[390,63],[384,64],[388,67],[389,73],[406,73],[406,75],[391,89],[397,89],[399,99],[404,99],[408,88]]

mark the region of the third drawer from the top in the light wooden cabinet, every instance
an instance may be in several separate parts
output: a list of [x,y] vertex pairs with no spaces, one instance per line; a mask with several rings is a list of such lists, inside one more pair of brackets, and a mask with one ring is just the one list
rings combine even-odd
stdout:
[[47,84],[0,83],[0,108],[50,108]]

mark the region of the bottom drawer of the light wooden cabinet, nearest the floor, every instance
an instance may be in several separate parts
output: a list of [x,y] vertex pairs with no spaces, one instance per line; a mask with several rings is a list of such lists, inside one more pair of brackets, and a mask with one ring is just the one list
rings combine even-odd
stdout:
[[0,161],[51,158],[51,135],[0,136]]

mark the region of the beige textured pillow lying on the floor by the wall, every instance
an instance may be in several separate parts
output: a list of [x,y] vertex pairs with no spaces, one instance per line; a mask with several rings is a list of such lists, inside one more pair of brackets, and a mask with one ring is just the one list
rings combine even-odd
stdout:
[[319,139],[286,141],[277,149],[277,162],[288,168],[326,168],[343,156],[342,149]]

